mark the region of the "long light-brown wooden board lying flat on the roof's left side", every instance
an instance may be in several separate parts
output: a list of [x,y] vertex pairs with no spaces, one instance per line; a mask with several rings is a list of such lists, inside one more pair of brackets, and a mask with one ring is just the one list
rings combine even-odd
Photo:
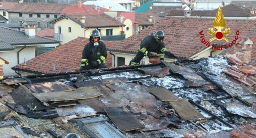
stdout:
[[80,87],[73,91],[58,91],[54,93],[33,93],[33,96],[41,102],[89,99],[101,95],[103,94],[93,87]]

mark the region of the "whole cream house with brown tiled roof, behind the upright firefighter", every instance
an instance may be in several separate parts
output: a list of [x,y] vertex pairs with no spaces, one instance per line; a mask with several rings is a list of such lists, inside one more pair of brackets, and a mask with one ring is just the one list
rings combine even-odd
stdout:
[[125,38],[125,34],[122,32],[122,27],[125,25],[105,14],[64,15],[50,23],[55,26],[55,39],[61,41],[62,44],[79,36],[89,38],[93,29],[100,30],[102,40]]

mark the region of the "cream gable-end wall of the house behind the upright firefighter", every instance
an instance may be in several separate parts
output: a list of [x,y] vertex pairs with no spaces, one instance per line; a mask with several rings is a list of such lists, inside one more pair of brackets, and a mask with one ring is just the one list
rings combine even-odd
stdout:
[[[76,39],[77,37],[85,36],[84,28],[80,24],[66,18],[57,21],[54,25],[54,32],[59,33],[59,26],[61,27],[61,34],[63,39],[61,44],[69,42],[70,40]],[[68,27],[71,27],[71,32],[68,32]]]

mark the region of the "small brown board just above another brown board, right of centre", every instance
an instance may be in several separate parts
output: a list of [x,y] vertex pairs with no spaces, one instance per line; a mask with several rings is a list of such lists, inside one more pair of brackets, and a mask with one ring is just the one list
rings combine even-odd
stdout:
[[150,94],[156,96],[161,101],[179,101],[178,97],[176,97],[170,90],[164,87],[150,87],[148,88]]

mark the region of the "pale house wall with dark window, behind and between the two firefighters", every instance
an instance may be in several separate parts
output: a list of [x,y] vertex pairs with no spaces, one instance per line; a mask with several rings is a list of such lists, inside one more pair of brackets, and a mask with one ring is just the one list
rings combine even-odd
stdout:
[[[130,63],[130,61],[132,60],[132,59],[134,59],[134,57],[136,56],[135,54],[127,54],[127,53],[119,53],[119,52],[113,52],[113,54],[116,56],[115,57],[115,64],[116,64],[116,67],[117,67],[117,63],[118,63],[118,61],[117,61],[117,58],[118,57],[122,57],[122,58],[125,58],[125,65],[129,65],[129,63]],[[112,63],[113,63],[113,66],[114,66],[114,57],[112,58],[113,60],[112,60]],[[149,58],[148,57],[144,57],[144,59],[145,59],[145,64],[150,64],[149,63]],[[174,60],[173,59],[164,59],[165,61],[167,61],[167,62],[173,62]]]

